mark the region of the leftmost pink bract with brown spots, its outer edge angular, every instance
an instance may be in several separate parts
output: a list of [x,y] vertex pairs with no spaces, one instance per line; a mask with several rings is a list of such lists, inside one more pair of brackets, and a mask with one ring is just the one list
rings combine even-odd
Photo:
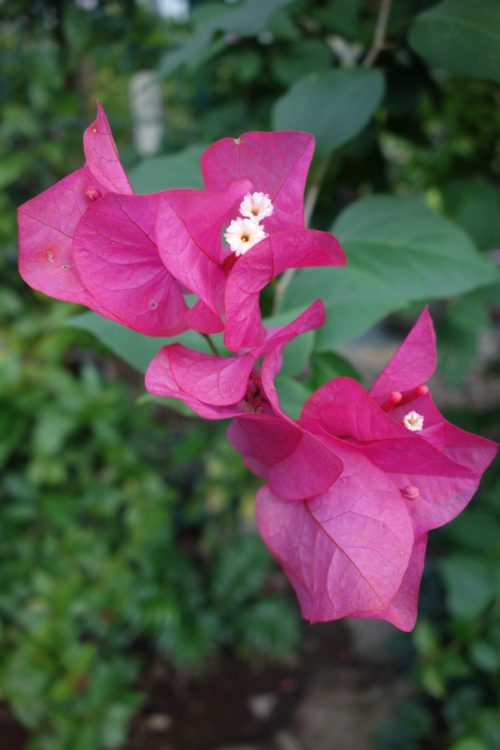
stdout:
[[94,182],[86,167],[78,169],[19,208],[19,273],[49,297],[102,313],[73,257],[73,236],[92,203],[87,192]]

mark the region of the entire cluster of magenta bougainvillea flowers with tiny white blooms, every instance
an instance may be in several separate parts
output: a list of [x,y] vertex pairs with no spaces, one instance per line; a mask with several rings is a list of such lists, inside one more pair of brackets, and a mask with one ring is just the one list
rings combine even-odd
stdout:
[[224,138],[202,157],[204,190],[154,195],[134,195],[100,106],[84,150],[82,169],[19,209],[25,281],[147,335],[223,332],[234,356],[165,346],[147,389],[233,419],[232,445],[266,481],[259,530],[305,618],[374,617],[410,630],[427,533],[465,507],[497,446],[434,405],[427,310],[368,393],[335,378],[299,420],[281,409],[282,350],[322,325],[324,305],[266,330],[260,292],[288,268],[345,263],[334,237],[304,225],[312,136]]

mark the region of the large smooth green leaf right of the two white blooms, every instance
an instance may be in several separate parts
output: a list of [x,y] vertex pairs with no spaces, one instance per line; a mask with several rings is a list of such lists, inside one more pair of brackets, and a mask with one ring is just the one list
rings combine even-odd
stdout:
[[470,238],[416,199],[368,196],[331,227],[348,264],[407,300],[449,297],[499,277]]

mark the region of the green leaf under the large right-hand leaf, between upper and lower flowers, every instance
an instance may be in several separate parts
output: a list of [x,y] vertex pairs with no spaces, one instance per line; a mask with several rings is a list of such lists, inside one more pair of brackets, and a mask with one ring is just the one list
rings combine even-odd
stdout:
[[314,300],[322,299],[327,317],[316,334],[315,349],[328,351],[405,307],[406,301],[396,289],[396,285],[389,286],[382,278],[351,266],[303,269],[288,285],[281,310],[298,314]]

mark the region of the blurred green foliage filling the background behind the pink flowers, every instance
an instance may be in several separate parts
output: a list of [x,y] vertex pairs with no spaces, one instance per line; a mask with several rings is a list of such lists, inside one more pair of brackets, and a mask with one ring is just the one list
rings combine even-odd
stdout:
[[[313,224],[335,221],[350,266],[297,274],[278,310],[264,298],[266,314],[292,316],[320,290],[329,312],[286,354],[291,414],[310,388],[356,376],[337,347],[411,313],[410,300],[440,300],[453,385],[468,382],[498,312],[496,0],[394,2],[372,70],[361,65],[371,0],[193,2],[179,22],[137,0],[87,5],[0,4],[0,696],[33,750],[122,747],[157,650],[193,669],[223,648],[298,647],[296,606],[274,591],[249,522],[257,485],[223,427],[141,399],[137,375],[88,331],[139,370],[158,342],[117,338],[87,313],[84,332],[70,328],[76,310],[17,278],[15,207],[81,164],[97,98],[138,191],[198,187],[203,145],[222,136],[274,125],[319,139],[328,161],[313,164]],[[157,71],[166,110],[162,155],[144,161],[130,145],[141,69]],[[495,416],[456,421],[498,437]],[[402,636],[421,698],[381,731],[381,750],[500,746],[499,496],[492,472],[474,506],[431,537],[413,648]]]

